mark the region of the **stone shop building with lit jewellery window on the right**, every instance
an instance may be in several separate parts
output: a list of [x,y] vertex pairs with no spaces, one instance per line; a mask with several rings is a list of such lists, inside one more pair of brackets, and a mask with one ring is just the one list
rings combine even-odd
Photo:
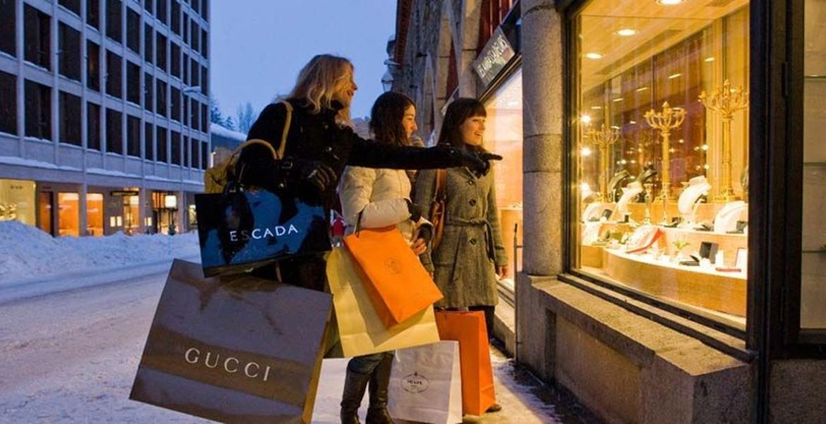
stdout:
[[517,361],[607,422],[824,420],[818,2],[397,4],[420,129],[479,98],[505,156]]

